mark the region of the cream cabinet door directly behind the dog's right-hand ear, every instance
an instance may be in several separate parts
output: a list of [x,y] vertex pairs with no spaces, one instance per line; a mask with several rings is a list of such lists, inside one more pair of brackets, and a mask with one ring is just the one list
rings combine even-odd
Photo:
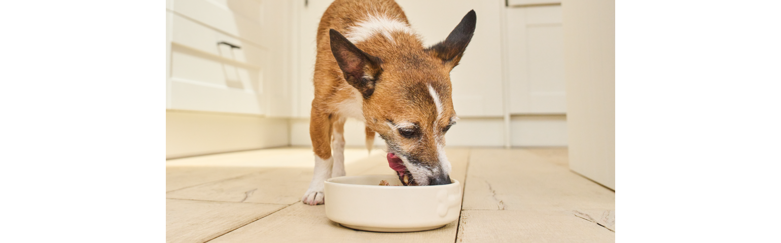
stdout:
[[461,63],[451,72],[453,106],[459,116],[503,114],[501,8],[504,1],[398,0],[412,29],[426,46],[444,41],[469,10],[475,10],[475,34]]

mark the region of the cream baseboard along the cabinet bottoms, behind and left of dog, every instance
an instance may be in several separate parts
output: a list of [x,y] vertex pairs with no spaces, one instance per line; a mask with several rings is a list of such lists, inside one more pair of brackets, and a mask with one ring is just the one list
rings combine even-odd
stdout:
[[[567,146],[565,115],[513,115],[512,146]],[[504,146],[502,118],[462,118],[445,137],[448,146]],[[346,146],[365,147],[363,122],[344,124]],[[166,110],[166,159],[276,146],[312,146],[308,118]],[[385,147],[376,136],[375,147]]]

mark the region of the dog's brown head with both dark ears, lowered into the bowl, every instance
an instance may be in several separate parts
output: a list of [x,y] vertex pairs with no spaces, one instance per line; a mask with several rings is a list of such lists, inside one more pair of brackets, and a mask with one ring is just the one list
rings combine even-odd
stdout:
[[363,96],[366,126],[385,139],[388,163],[405,185],[451,183],[444,135],[458,118],[450,71],[472,40],[475,23],[475,12],[470,11],[445,41],[430,48],[416,38],[405,40],[409,36],[367,41],[358,48],[330,30],[341,74]]

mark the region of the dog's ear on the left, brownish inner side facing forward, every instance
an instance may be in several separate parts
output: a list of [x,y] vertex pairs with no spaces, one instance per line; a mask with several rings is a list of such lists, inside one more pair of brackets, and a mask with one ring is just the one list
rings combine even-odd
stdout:
[[337,59],[344,79],[361,92],[364,99],[374,93],[374,84],[383,69],[382,60],[361,51],[337,30],[330,30],[331,53]]

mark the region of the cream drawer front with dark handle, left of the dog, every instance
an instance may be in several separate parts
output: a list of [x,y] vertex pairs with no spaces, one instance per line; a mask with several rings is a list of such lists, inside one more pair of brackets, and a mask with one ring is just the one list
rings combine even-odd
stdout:
[[172,32],[167,108],[264,114],[266,51],[182,16]]

